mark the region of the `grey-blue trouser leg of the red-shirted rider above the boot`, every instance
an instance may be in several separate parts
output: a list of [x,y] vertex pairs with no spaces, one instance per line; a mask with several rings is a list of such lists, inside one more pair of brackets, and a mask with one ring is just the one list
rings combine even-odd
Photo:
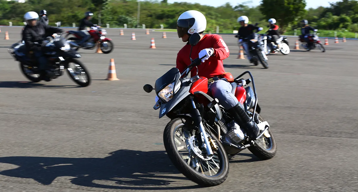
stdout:
[[223,79],[213,82],[209,88],[213,97],[217,98],[220,105],[225,109],[230,109],[239,103],[235,95],[231,93],[231,90],[231,84]]

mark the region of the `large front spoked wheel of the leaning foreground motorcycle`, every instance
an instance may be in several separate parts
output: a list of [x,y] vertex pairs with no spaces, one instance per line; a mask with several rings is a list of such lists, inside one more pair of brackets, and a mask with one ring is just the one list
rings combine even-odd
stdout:
[[[198,131],[193,130],[190,118],[175,118],[164,130],[164,146],[174,166],[195,183],[203,187],[223,183],[229,174],[229,161],[219,140],[209,135],[213,157],[207,157],[198,142]],[[200,137],[200,136],[199,136]],[[201,142],[201,139],[200,139]]]

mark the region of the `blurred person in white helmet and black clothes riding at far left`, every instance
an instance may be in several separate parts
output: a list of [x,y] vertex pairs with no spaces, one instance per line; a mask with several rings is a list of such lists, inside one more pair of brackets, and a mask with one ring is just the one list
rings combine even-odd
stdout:
[[38,22],[39,15],[34,11],[26,12],[24,15],[26,26],[22,32],[23,40],[25,41],[26,52],[33,51],[34,57],[38,62],[38,69],[41,76],[45,81],[50,81],[50,77],[56,75],[52,71],[47,70],[47,59],[43,55],[44,45],[43,42],[47,34],[62,33],[63,30],[57,27],[44,25],[42,22]]

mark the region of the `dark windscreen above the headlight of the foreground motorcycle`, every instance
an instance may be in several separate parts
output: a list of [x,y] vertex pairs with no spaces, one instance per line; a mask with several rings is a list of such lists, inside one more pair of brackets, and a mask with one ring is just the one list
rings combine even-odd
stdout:
[[176,86],[178,80],[180,78],[180,72],[178,68],[171,68],[168,72],[166,72],[163,76],[159,77],[155,81],[154,89],[155,94],[158,95],[158,92],[163,90],[169,84],[174,83],[174,87]]

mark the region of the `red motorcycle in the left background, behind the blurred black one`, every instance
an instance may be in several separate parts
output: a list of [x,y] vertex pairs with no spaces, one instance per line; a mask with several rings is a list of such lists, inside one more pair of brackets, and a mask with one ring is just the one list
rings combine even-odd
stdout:
[[[81,31],[67,31],[66,33],[67,33],[66,39],[70,41],[69,44],[71,45],[71,47],[75,47],[74,49],[76,51],[78,51],[80,47],[82,47],[82,49],[95,49],[98,42],[100,43],[101,51],[104,54],[108,54],[113,50],[112,39],[106,38],[105,35],[107,34],[107,32],[105,29],[98,28],[96,30],[95,29],[89,30],[88,33],[89,35],[91,35],[91,37],[86,41],[85,47],[79,45],[79,42],[83,38]],[[74,37],[68,38],[69,35],[73,35]]]

